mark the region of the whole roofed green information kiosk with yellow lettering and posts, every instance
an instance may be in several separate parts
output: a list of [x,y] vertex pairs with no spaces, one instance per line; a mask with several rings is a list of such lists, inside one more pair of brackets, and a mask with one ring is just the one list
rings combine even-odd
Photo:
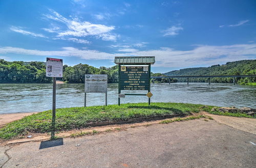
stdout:
[[[118,71],[118,105],[120,98],[125,95],[147,96],[150,105],[150,79],[151,65],[155,63],[155,57],[115,57],[115,63],[119,67]],[[147,94],[121,94],[122,90],[147,91]]]

